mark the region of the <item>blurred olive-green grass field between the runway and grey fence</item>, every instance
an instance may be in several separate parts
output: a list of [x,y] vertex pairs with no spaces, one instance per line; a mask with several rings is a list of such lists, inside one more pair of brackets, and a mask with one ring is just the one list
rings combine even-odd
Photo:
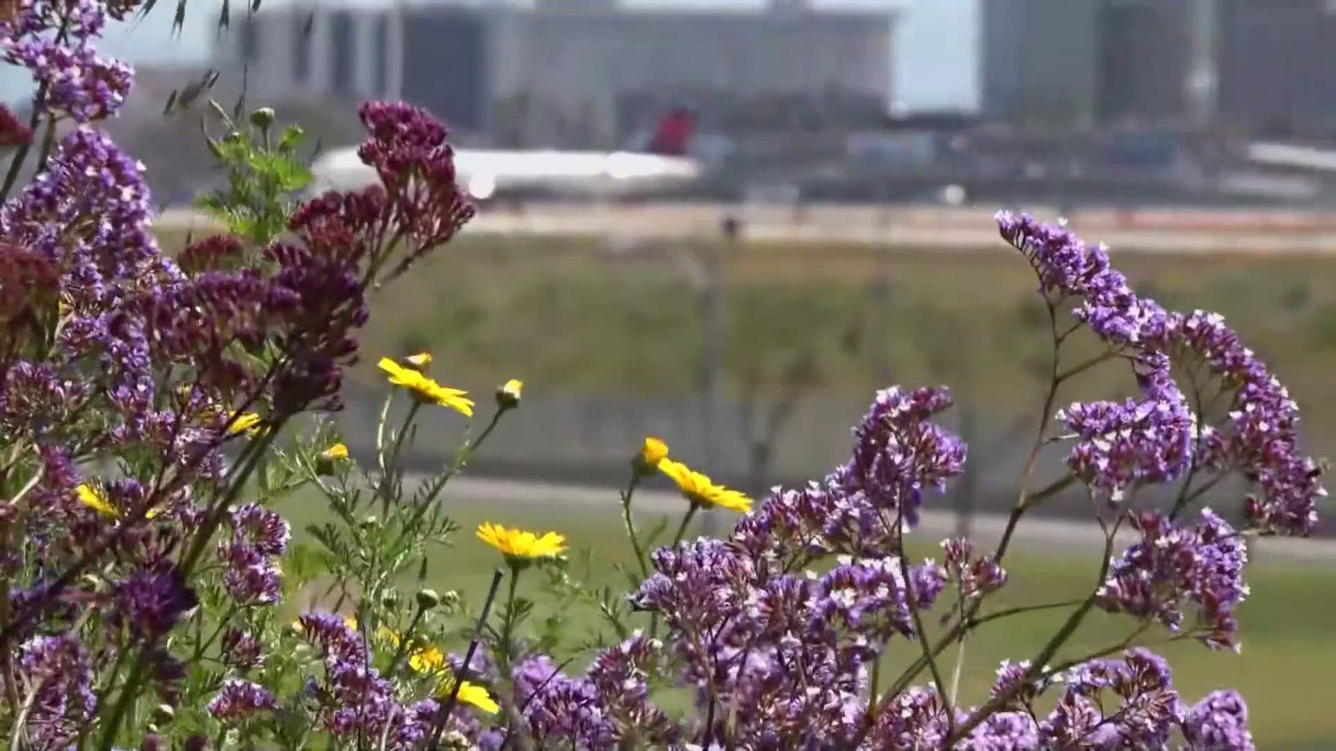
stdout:
[[[379,354],[426,347],[442,380],[484,393],[517,376],[526,393],[693,393],[708,253],[723,254],[721,365],[733,393],[787,389],[779,374],[799,357],[816,366],[814,393],[862,400],[887,385],[883,374],[942,382],[998,422],[1033,409],[1041,393],[1047,323],[1034,274],[1001,241],[995,253],[941,253],[464,235],[373,301],[367,357],[354,377],[378,382]],[[1336,262],[1133,254],[1116,263],[1166,306],[1224,313],[1289,385],[1315,449],[1336,452]],[[1124,369],[1110,366],[1065,397],[1129,388]]]

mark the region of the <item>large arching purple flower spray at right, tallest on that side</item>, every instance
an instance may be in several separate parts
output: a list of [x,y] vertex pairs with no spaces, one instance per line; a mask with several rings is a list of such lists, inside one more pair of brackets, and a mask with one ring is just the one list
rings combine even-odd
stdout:
[[[1189,468],[1237,472],[1257,488],[1246,506],[1250,528],[1303,536],[1316,527],[1317,500],[1327,492],[1317,462],[1300,449],[1299,408],[1221,315],[1166,311],[1138,298],[1102,247],[1086,246],[1063,226],[1009,212],[997,219],[1002,237],[1034,266],[1046,299],[1074,299],[1077,319],[1133,362],[1142,389],[1141,400],[1078,404],[1059,414],[1077,436],[1069,464],[1083,481],[1117,494]],[[1172,358],[1193,366],[1194,393],[1225,397],[1222,418],[1193,414],[1170,376]]]

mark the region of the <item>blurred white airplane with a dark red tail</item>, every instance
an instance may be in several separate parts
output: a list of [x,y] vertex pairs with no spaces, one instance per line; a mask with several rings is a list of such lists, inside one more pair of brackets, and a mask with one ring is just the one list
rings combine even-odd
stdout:
[[[505,195],[549,194],[582,198],[629,198],[681,188],[704,174],[691,156],[696,114],[664,114],[647,151],[564,151],[456,148],[460,187],[480,202]],[[313,190],[361,190],[377,182],[355,147],[327,151],[311,166]]]

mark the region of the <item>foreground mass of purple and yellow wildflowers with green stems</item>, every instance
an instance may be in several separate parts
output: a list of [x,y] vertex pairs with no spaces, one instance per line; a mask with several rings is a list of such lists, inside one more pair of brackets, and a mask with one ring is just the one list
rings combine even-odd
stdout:
[[[92,41],[131,11],[24,0],[0,24],[5,59],[37,82],[27,124],[0,111],[0,147],[17,164],[39,146],[36,176],[11,196],[11,167],[0,206],[11,747],[1253,747],[1237,692],[1192,703],[1150,651],[1237,649],[1250,541],[1309,533],[1324,496],[1295,401],[1218,315],[1165,310],[1102,247],[999,214],[1035,270],[1051,361],[995,545],[947,540],[941,564],[906,552],[966,446],[935,421],[946,389],[891,388],[844,464],[763,500],[659,438],[628,448],[620,510],[635,568],[627,592],[595,592],[577,569],[589,559],[561,531],[486,522],[457,540],[448,485],[522,409],[518,380],[484,406],[429,353],[386,357],[366,456],[327,420],[373,293],[472,216],[441,124],[365,104],[359,155],[379,184],[302,200],[301,131],[271,132],[267,110],[224,116],[210,146],[227,187],[202,206],[227,231],[171,258],[150,231],[142,167],[92,126],[130,86]],[[1093,338],[1096,357],[1071,362],[1075,337]],[[1125,369],[1137,396],[1058,409],[1062,388],[1094,367]],[[410,476],[424,410],[468,434],[434,472]],[[1065,452],[1065,470],[1041,478],[1047,450]],[[1250,486],[1238,513],[1201,508],[1229,477]],[[683,496],[663,547],[636,525],[636,492],[651,482]],[[1157,486],[1172,489],[1162,508],[1133,506]],[[1015,531],[1066,489],[1086,493],[1104,533],[1089,592],[999,608]],[[285,514],[298,498],[322,514],[294,532]],[[737,522],[689,539],[701,508]],[[1120,531],[1134,535],[1125,549]],[[450,544],[496,556],[481,607],[428,581]],[[562,633],[569,621],[545,613],[538,591],[595,605],[611,636]],[[1061,625],[967,704],[970,639],[1035,611]],[[1094,611],[1121,619],[1124,636],[1071,653]],[[908,655],[907,667],[890,671],[888,655]],[[665,688],[685,692],[689,711],[660,706]]]

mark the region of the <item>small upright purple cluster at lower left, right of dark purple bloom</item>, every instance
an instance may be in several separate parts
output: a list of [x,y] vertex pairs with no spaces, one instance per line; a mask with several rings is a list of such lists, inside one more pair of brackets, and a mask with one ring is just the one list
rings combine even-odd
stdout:
[[218,545],[218,557],[227,565],[227,593],[238,604],[277,603],[283,591],[277,559],[291,539],[287,522],[258,504],[234,509],[231,522],[231,540]]

